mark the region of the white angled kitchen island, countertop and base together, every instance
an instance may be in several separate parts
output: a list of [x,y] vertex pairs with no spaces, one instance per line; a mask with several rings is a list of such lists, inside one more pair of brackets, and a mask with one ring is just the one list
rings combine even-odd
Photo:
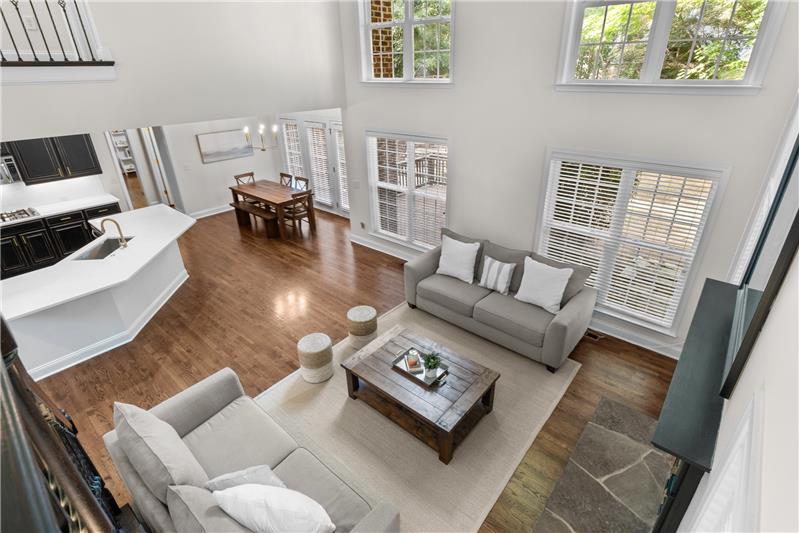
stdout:
[[34,379],[130,342],[189,276],[176,240],[193,218],[165,205],[107,218],[126,246],[107,223],[55,265],[0,281],[0,311]]

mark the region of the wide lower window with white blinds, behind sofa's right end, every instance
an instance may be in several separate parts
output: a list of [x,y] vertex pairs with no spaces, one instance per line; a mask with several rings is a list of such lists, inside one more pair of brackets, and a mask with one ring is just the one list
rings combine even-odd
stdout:
[[590,267],[601,310],[670,329],[720,177],[556,153],[539,252]]

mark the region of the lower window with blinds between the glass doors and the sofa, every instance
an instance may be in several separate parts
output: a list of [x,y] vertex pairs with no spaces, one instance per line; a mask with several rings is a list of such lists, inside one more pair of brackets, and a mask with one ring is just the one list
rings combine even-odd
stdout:
[[367,155],[374,231],[437,246],[447,209],[447,144],[368,133]]

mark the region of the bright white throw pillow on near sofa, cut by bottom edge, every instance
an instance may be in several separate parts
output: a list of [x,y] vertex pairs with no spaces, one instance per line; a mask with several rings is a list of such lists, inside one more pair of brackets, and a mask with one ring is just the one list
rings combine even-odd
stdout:
[[336,529],[320,504],[291,489],[239,485],[215,490],[214,499],[234,520],[256,533],[332,533]]

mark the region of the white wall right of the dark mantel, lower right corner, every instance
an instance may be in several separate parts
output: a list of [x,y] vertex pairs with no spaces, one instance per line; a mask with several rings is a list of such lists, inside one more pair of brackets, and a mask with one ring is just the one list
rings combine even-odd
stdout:
[[[764,328],[756,340],[722,414],[717,448],[711,473],[700,482],[683,523],[692,530],[704,518],[704,503],[714,491],[715,481],[724,473],[721,466],[731,450],[736,430],[756,395],[761,401],[756,412],[761,417],[761,453],[753,457],[760,463],[761,482],[750,486],[760,495],[758,531],[798,531],[798,258],[794,261],[778,293]],[[709,508],[707,512],[713,513]]]

